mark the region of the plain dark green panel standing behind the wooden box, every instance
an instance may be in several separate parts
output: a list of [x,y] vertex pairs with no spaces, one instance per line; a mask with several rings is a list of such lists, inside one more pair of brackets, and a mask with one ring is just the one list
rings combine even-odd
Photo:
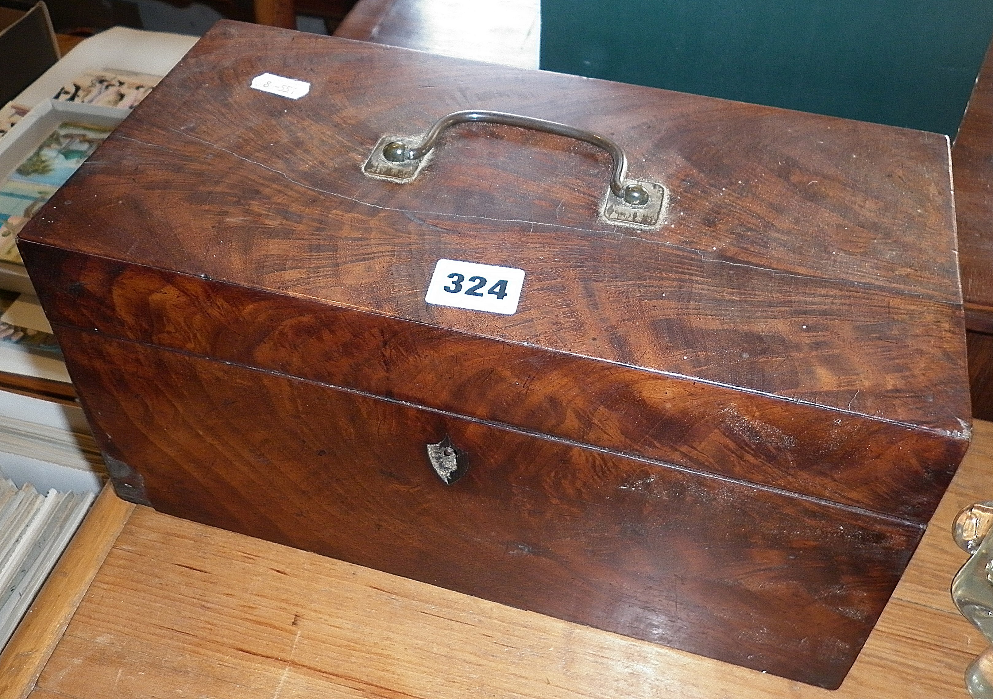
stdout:
[[993,0],[541,0],[541,68],[954,135]]

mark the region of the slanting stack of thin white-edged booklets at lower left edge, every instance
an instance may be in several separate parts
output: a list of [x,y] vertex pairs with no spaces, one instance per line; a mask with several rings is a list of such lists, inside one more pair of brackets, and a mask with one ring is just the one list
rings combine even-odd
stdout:
[[0,475],[0,648],[7,644],[55,567],[92,492],[42,494]]

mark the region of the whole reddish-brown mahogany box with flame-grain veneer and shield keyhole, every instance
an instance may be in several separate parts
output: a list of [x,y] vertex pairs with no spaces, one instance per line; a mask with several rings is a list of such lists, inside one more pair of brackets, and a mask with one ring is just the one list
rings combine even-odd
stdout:
[[221,22],[20,244],[123,497],[825,687],[968,445],[935,134]]

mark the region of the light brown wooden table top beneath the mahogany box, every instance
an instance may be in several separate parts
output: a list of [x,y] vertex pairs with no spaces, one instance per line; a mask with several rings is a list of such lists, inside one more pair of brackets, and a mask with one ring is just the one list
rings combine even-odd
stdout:
[[[965,699],[963,670],[985,642],[948,595],[965,560],[950,522],[991,497],[991,477],[993,423],[977,422],[836,692],[137,507],[30,696]],[[28,654],[8,648],[0,675]],[[16,696],[2,680],[0,694]]]

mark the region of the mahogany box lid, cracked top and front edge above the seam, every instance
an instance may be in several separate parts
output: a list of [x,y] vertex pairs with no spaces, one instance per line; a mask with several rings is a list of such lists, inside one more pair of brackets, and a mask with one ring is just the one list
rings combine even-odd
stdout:
[[[610,156],[523,128],[363,174],[460,109],[613,139],[660,224],[605,221]],[[57,330],[844,506],[925,521],[967,446],[937,134],[225,21],[21,240]],[[439,259],[524,270],[516,312],[425,303]]]

